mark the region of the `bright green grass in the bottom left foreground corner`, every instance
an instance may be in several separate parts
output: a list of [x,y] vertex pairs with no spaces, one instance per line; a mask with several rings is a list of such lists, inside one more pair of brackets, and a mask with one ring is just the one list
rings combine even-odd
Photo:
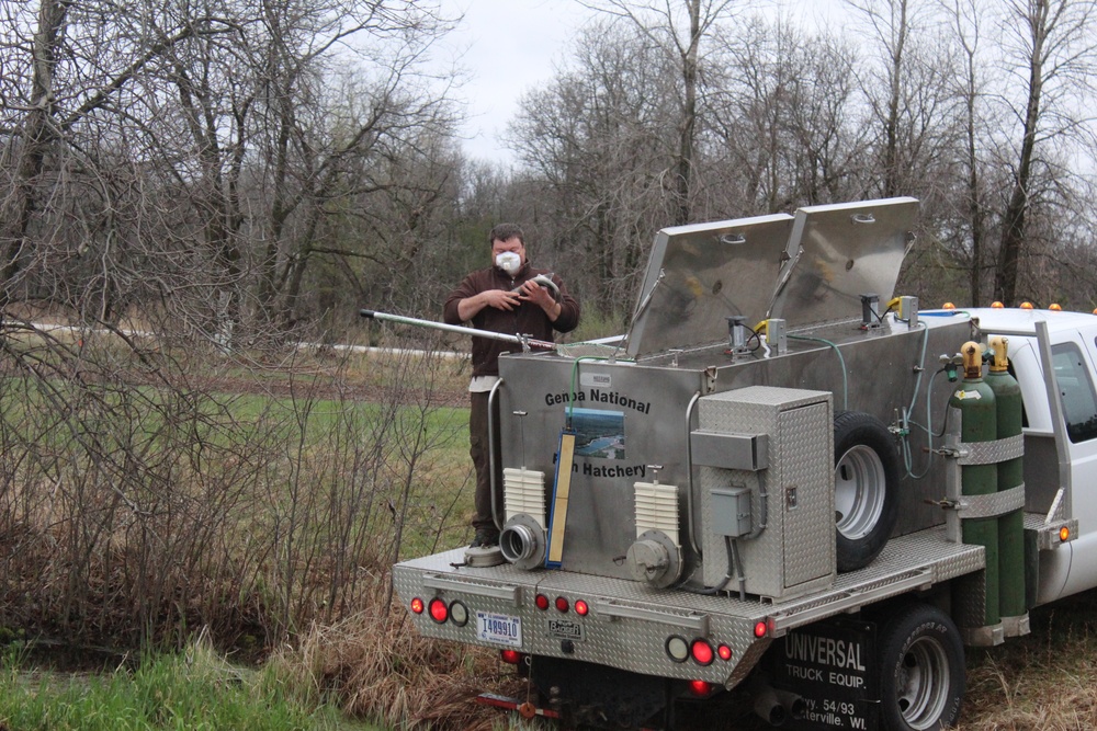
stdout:
[[307,707],[272,673],[231,666],[201,648],[105,675],[41,672],[15,659],[0,677],[0,729],[11,731],[382,728]]

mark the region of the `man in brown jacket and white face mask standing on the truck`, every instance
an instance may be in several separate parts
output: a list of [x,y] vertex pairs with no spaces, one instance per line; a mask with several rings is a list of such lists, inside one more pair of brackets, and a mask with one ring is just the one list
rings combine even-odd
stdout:
[[[569,332],[579,324],[579,302],[567,294],[564,282],[547,270],[530,266],[525,237],[513,224],[491,229],[493,265],[472,272],[445,300],[443,319],[449,324],[472,322],[477,330],[511,335],[528,335],[552,341],[554,331]],[[551,276],[559,294],[539,285],[534,277]],[[470,450],[476,467],[476,515],[473,547],[499,542],[499,526],[493,517],[491,475],[488,449],[496,458],[495,513],[502,521],[502,466],[499,454],[499,414],[496,411],[494,444],[488,442],[488,395],[499,378],[499,355],[516,345],[488,338],[473,336],[473,377],[468,385],[472,411],[468,415]],[[495,404],[498,410],[498,401]]]

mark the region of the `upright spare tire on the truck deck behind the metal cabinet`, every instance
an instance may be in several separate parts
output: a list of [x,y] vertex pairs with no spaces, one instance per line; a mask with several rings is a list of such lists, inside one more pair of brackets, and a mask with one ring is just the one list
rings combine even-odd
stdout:
[[838,571],[874,559],[898,518],[898,454],[883,422],[861,411],[834,418],[834,509]]

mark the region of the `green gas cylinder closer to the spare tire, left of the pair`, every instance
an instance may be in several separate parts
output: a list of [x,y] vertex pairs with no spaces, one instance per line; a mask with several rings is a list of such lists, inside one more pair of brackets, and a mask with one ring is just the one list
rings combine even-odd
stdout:
[[[998,438],[997,407],[994,391],[983,380],[983,350],[968,342],[960,349],[963,355],[963,380],[949,399],[949,407],[960,410],[960,443],[994,442]],[[987,495],[998,490],[997,465],[963,465],[960,468],[960,491],[964,496]],[[998,609],[998,518],[963,518],[963,542],[982,546],[986,551],[986,606],[983,625],[1000,623]]]

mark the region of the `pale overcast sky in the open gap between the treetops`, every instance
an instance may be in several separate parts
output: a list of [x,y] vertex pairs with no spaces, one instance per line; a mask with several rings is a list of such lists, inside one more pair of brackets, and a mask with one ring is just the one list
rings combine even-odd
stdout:
[[[776,13],[779,2],[805,22],[824,24],[821,13],[840,4],[840,0],[770,0],[769,10]],[[753,2],[750,9],[762,5]],[[499,139],[507,121],[522,93],[553,77],[553,65],[565,59],[570,41],[591,13],[576,0],[442,0],[442,11],[448,16],[464,14],[443,49],[450,56],[463,53],[461,65],[471,76],[456,92],[467,102],[468,123],[462,129],[468,138],[465,152],[510,164],[512,153]]]

